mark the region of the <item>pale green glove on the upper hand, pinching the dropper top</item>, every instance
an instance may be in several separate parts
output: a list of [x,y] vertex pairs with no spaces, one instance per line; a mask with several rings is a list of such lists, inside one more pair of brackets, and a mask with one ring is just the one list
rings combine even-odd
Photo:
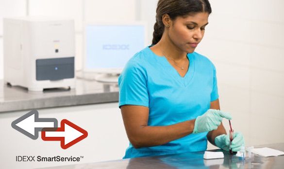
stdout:
[[217,127],[220,126],[223,118],[231,120],[232,116],[229,113],[209,109],[207,112],[196,118],[193,134],[217,129]]

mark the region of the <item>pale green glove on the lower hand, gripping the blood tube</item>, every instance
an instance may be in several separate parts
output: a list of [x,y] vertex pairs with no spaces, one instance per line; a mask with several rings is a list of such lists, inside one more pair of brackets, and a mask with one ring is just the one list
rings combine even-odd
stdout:
[[[230,134],[222,134],[215,138],[215,144],[217,147],[229,151],[230,150]],[[237,152],[241,149],[241,146],[245,144],[244,137],[242,133],[235,132],[233,136],[233,141],[231,148],[233,152]]]

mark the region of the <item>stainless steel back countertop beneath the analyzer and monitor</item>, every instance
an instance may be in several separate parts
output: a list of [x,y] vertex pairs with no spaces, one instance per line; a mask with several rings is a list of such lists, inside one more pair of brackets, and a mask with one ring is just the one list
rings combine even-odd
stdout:
[[30,92],[27,88],[9,86],[0,80],[0,113],[117,101],[117,84],[77,79],[75,89],[56,88]]

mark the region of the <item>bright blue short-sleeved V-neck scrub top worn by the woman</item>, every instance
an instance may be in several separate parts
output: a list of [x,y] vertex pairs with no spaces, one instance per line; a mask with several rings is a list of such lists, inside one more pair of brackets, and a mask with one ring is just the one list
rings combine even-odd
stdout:
[[[118,78],[119,108],[122,105],[149,107],[148,126],[168,126],[195,119],[218,99],[216,69],[205,56],[187,54],[189,68],[184,77],[164,56],[149,47],[135,54]],[[135,112],[134,112],[135,113]],[[207,132],[189,134],[152,147],[134,148],[130,143],[123,158],[205,151]]]

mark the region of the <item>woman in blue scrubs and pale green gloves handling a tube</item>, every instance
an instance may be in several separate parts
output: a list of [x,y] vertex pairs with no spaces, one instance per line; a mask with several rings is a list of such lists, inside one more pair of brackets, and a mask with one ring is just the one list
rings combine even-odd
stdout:
[[[124,158],[205,151],[207,139],[229,150],[219,111],[216,70],[196,52],[208,24],[208,0],[159,0],[152,45],[118,79],[119,108],[130,141]],[[234,134],[231,148],[244,143]]]

